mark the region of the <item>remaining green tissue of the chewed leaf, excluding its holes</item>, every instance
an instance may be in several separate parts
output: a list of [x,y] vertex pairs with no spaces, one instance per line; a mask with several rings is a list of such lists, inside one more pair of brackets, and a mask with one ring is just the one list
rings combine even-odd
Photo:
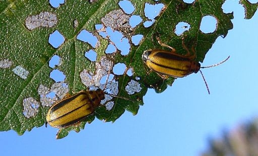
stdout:
[[[181,45],[182,37],[184,37],[188,48],[196,45],[193,48],[197,50],[197,61],[203,61],[205,54],[217,37],[225,37],[228,30],[233,28],[230,21],[233,19],[233,14],[222,12],[221,6],[224,2],[222,0],[197,1],[193,4],[184,4],[182,1],[161,1],[160,3],[163,3],[165,8],[155,18],[154,25],[145,28],[141,23],[134,29],[128,27],[128,21],[120,23],[120,25],[114,23],[119,20],[114,20],[112,23],[110,18],[103,19],[107,15],[118,12],[122,16],[132,16],[119,11],[118,2],[98,0],[90,3],[89,1],[67,0],[57,9],[52,8],[46,0],[0,2],[0,64],[6,65],[5,67],[0,66],[1,131],[13,129],[19,134],[23,134],[33,127],[42,126],[49,109],[43,104],[51,104],[42,101],[42,95],[45,96],[51,88],[58,92],[67,91],[67,88],[63,87],[66,84],[70,94],[87,89],[89,86],[85,85],[86,81],[84,82],[80,74],[83,71],[92,72],[93,75],[99,74],[97,63],[101,62],[103,58],[113,61],[114,64],[124,63],[126,69],[133,69],[133,76],[128,76],[125,73],[122,75],[114,74],[114,80],[118,82],[119,90],[119,93],[112,100],[114,106],[111,110],[107,110],[105,107],[97,108],[94,114],[83,120],[79,130],[84,128],[86,122],[92,122],[95,116],[100,120],[114,122],[125,110],[135,115],[139,106],[143,105],[143,96],[146,94],[147,88],[154,88],[156,92],[161,93],[167,88],[167,85],[171,85],[174,81],[172,77],[163,80],[155,72],[149,71],[142,61],[143,51],[154,48],[166,49],[157,43],[155,39],[157,35],[162,42],[173,46],[179,54],[186,53]],[[145,3],[154,5],[155,2],[147,0],[132,0],[130,2],[136,9],[133,15],[140,15],[144,22],[147,21],[148,19],[144,15]],[[25,25],[26,19],[46,12],[48,15],[56,16],[57,23],[53,27],[41,26],[29,30]],[[202,17],[206,15],[214,16],[217,19],[218,25],[214,33],[204,34],[199,29]],[[74,21],[78,24],[75,24]],[[114,30],[122,32],[129,40],[131,40],[132,35],[142,34],[144,38],[141,44],[134,46],[130,41],[130,53],[126,56],[121,55],[119,51],[115,54],[105,54],[104,51],[110,40],[102,38],[95,29],[95,25],[104,23],[107,26],[108,24],[105,22],[110,21],[110,26]],[[174,29],[177,23],[182,21],[190,24],[190,30],[184,32],[183,36],[177,36]],[[55,30],[58,30],[65,38],[64,43],[57,49],[48,43],[49,34]],[[92,47],[90,44],[78,40],[76,37],[82,30],[87,30],[97,36],[99,45]],[[97,63],[84,56],[85,51],[90,49],[96,51]],[[55,66],[54,69],[59,69],[66,75],[65,82],[54,83],[49,77],[53,69],[48,66],[48,63],[53,55],[58,55],[61,58],[61,64]],[[19,66],[19,70],[16,68],[17,66]],[[15,74],[13,70],[18,70],[22,75]],[[112,71],[109,72],[112,73]],[[128,95],[125,88],[132,81],[137,82],[141,90],[139,93]],[[45,98],[44,96],[43,98]],[[63,96],[64,94],[61,94],[57,98],[61,99]],[[36,109],[31,108],[35,112],[30,112],[32,116],[29,118],[24,115],[24,104],[33,104],[36,107]],[[31,115],[30,113],[28,115]],[[68,135],[72,129],[79,131],[78,127],[61,129],[57,138]]]

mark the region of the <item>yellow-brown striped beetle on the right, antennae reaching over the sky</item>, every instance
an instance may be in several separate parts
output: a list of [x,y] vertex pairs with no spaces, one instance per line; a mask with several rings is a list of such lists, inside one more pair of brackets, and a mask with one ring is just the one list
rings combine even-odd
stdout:
[[167,79],[168,76],[172,77],[184,77],[189,75],[193,72],[197,73],[198,71],[201,72],[203,80],[205,82],[206,88],[208,93],[210,94],[209,87],[205,81],[204,75],[200,68],[209,68],[213,66],[218,66],[224,63],[226,60],[229,59],[228,56],[225,60],[218,64],[210,65],[210,66],[202,66],[196,59],[196,51],[195,47],[192,46],[191,51],[193,54],[190,53],[189,49],[184,44],[184,39],[182,40],[182,46],[187,51],[186,55],[180,55],[175,53],[175,48],[166,45],[160,41],[160,38],[157,37],[158,43],[161,46],[167,47],[171,49],[171,51],[162,50],[162,49],[148,49],[144,51],[142,55],[142,59],[144,63],[153,71],[158,73],[163,79]]

